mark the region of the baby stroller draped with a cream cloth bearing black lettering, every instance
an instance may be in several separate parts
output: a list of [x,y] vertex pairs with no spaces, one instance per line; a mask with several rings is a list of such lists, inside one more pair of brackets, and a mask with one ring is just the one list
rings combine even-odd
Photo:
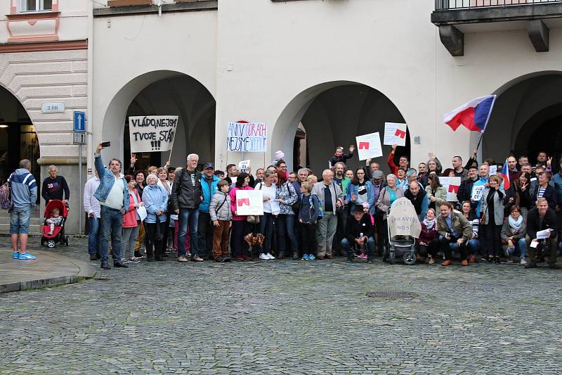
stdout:
[[402,260],[405,265],[416,263],[416,239],[421,232],[421,224],[416,209],[408,198],[399,198],[391,205],[386,218],[388,246],[382,254],[383,262],[391,265]]

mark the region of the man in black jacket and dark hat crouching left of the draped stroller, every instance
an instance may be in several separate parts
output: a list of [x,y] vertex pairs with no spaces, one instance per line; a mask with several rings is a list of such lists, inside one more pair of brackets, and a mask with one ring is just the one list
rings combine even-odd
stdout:
[[[367,209],[368,210],[368,209]],[[367,248],[367,263],[372,262],[374,255],[373,224],[370,215],[365,215],[362,205],[355,205],[353,217],[346,224],[346,237],[341,240],[341,247],[346,250],[347,260],[353,260],[355,246]]]

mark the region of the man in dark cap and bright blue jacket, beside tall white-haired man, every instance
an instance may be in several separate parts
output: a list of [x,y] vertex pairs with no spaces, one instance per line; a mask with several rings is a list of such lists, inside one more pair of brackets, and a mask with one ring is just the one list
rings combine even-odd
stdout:
[[221,180],[215,176],[215,165],[213,163],[205,163],[203,165],[203,174],[201,175],[203,201],[201,201],[199,206],[199,222],[197,224],[199,253],[203,257],[207,257],[213,252],[213,225],[211,224],[209,206],[211,205],[211,199],[218,191],[217,184],[219,181]]

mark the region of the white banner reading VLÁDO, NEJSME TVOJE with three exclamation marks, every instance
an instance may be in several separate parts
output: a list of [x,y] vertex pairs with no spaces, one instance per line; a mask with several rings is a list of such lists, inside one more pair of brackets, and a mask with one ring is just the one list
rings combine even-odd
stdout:
[[169,151],[174,144],[178,116],[131,116],[131,153]]

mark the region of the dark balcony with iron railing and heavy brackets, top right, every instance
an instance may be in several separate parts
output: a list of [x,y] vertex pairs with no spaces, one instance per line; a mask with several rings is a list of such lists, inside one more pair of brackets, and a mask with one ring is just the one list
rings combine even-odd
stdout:
[[[513,30],[526,25],[537,52],[549,51],[549,20],[562,18],[562,0],[435,0],[431,22],[452,56],[464,56],[464,32]],[[521,27],[523,25],[523,27]]]

